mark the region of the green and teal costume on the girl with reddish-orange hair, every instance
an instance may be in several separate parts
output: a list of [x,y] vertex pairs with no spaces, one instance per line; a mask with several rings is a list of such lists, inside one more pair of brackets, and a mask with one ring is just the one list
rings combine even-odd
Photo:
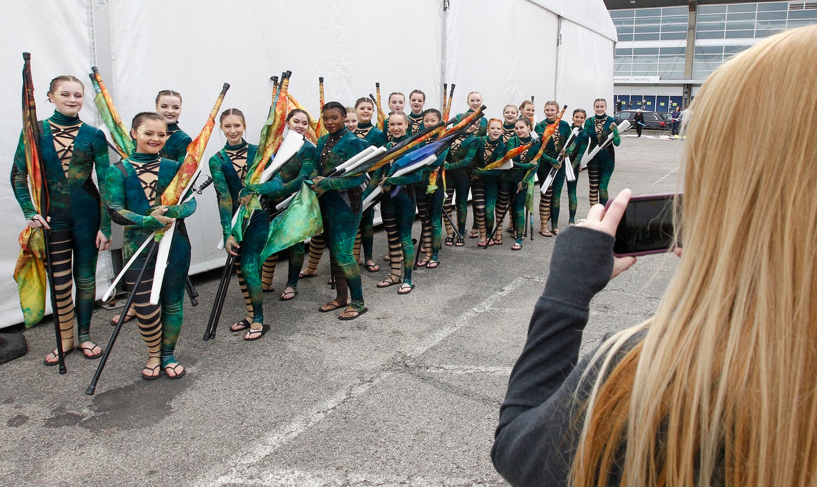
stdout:
[[[483,168],[490,163],[504,157],[507,148],[502,143],[502,137],[491,141],[489,136],[477,137],[474,142],[474,171],[471,173],[471,194],[474,195],[474,216],[477,228],[480,230],[480,242],[488,239],[488,232],[493,228],[494,217],[497,214],[497,198],[499,194],[499,180],[501,170],[485,171]],[[502,228],[498,228],[493,235],[502,241]]]

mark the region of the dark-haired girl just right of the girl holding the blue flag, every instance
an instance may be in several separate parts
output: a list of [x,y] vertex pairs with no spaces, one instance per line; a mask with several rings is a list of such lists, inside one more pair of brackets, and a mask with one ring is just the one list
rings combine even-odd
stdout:
[[[440,123],[443,118],[438,109],[427,109],[426,114],[422,116],[422,123],[426,127],[431,127]],[[426,144],[436,141],[439,136],[433,136]],[[431,180],[431,173],[439,172],[440,165],[444,163],[445,158],[448,157],[449,150],[446,149],[437,160],[431,165],[426,166],[422,170],[422,181],[415,184],[417,190],[417,212],[419,212],[420,221],[422,221],[421,241],[423,257],[417,262],[417,266],[426,267],[426,269],[435,269],[440,265],[440,247],[443,244],[443,230],[440,219],[443,217],[443,200],[445,192],[443,190],[442,178],[438,177],[436,187],[431,188],[429,181]]]

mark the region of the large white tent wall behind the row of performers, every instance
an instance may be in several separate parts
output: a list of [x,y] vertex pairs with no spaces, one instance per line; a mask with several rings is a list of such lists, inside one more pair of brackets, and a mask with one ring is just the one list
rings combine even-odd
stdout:
[[[230,83],[222,108],[243,110],[253,143],[269,108],[270,76],[287,69],[290,92],[312,114],[319,76],[325,78],[326,100],[345,105],[374,92],[377,81],[384,98],[422,89],[431,108],[440,106],[442,84],[456,83],[453,113],[465,111],[467,93],[477,90],[489,116],[497,118],[504,105],[530,96],[540,114],[547,100],[567,104],[568,113],[578,107],[590,112],[593,99],[613,96],[616,34],[602,0],[35,0],[17,2],[14,11],[17,21],[0,33],[0,60],[7,66],[2,86],[17,92],[20,53],[30,51],[41,118],[53,109],[46,97],[49,80],[58,74],[85,80],[92,65],[99,66],[126,121],[154,109],[159,90],[181,92],[180,125],[191,136],[203,126],[221,84]],[[86,85],[80,116],[99,125]],[[0,120],[0,159],[7,171],[20,133],[18,106],[11,103],[9,116]],[[206,157],[223,144],[221,133],[213,132]],[[0,230],[0,328],[22,321],[11,275],[25,221],[8,181],[0,187],[7,218]],[[188,219],[191,273],[225,259],[215,246],[215,200],[208,190]],[[105,252],[98,297],[113,277]]]

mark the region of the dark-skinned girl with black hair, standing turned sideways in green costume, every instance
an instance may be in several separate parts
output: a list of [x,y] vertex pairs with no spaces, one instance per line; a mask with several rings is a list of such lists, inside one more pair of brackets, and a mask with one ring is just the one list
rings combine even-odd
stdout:
[[364,150],[366,143],[344,126],[346,108],[337,101],[324,105],[321,116],[329,133],[318,140],[310,188],[319,196],[337,297],[320,306],[319,311],[346,307],[338,318],[355,319],[367,311],[360,268],[354,256],[355,235],[360,226],[360,185],[365,177],[327,178],[323,175]]

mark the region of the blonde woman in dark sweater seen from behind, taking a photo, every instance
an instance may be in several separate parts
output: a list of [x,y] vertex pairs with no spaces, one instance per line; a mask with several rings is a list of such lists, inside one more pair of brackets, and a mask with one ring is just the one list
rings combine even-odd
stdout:
[[[817,205],[801,194],[817,185],[817,104],[801,93],[817,92],[815,46],[817,25],[777,34],[704,83],[676,273],[652,318],[578,366],[593,294],[632,265],[612,255],[628,191],[556,239],[492,452],[511,485],[814,485]],[[758,129],[758,105],[800,123]]]

